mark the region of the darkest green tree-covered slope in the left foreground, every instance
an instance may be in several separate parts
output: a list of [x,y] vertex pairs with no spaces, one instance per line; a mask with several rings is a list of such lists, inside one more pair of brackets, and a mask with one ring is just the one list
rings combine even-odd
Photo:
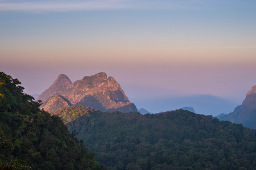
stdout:
[[103,169],[61,118],[40,111],[40,103],[23,94],[19,84],[0,73],[0,169],[15,169],[3,167],[6,164],[32,169]]

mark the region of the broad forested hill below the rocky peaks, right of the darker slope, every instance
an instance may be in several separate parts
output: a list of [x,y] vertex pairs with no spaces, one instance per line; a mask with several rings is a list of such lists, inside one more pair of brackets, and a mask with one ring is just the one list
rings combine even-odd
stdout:
[[108,169],[256,169],[256,131],[241,124],[182,109],[145,115],[84,109],[67,126]]

